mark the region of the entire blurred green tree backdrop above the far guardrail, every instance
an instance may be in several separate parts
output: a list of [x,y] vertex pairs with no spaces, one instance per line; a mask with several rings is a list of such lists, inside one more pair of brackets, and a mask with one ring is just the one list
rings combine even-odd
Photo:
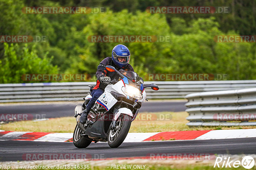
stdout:
[[[103,13],[25,14],[26,6],[104,7]],[[150,14],[148,6],[228,6],[229,13]],[[134,70],[148,74],[228,74],[256,78],[255,43],[216,43],[215,35],[256,35],[256,2],[242,0],[0,0],[0,35],[46,36],[46,42],[0,43],[0,83],[22,74],[95,74],[120,43],[91,43],[90,35],[170,36],[170,42],[123,43]],[[89,80],[92,81],[92,80]]]

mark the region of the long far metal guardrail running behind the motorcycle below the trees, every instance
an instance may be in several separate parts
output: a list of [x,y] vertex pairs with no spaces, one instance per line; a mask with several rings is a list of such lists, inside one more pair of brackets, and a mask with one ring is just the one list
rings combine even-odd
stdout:
[[[155,83],[158,91],[145,89],[147,99],[185,98],[203,91],[218,91],[256,87],[255,80],[245,81],[145,81]],[[56,82],[0,84],[0,103],[82,100],[89,92],[88,85],[95,82]]]

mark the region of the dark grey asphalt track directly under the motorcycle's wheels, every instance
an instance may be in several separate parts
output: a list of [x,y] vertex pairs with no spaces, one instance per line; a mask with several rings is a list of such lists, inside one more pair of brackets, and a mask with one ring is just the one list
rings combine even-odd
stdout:
[[[183,140],[123,143],[110,148],[107,143],[92,143],[78,149],[71,142],[0,141],[0,161],[26,160],[24,154],[88,154],[91,158],[144,157],[150,153],[255,154],[256,138]],[[22,157],[23,155],[23,157]]]

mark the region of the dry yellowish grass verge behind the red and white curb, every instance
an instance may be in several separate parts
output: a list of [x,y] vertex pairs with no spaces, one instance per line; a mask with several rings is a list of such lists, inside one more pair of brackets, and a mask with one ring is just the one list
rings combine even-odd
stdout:
[[[188,120],[186,120],[186,117],[188,117],[187,112],[139,113],[139,115],[137,117],[138,119],[136,118],[137,120],[135,119],[135,121],[132,122],[129,132],[197,131],[256,128],[256,126],[188,127],[186,125],[186,123],[188,123]],[[150,115],[151,118],[147,117],[147,115]],[[62,117],[39,122],[17,121],[8,124],[0,124],[0,129],[4,131],[73,133],[75,126],[76,120],[74,117]]]

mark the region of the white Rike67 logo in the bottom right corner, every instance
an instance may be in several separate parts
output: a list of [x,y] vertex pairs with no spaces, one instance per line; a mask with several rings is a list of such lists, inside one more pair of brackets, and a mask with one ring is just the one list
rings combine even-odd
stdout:
[[234,167],[237,168],[239,166],[243,166],[246,169],[251,169],[254,166],[254,159],[251,156],[245,156],[242,161],[240,160],[230,160],[230,156],[227,157],[216,157],[214,168],[215,167]]

